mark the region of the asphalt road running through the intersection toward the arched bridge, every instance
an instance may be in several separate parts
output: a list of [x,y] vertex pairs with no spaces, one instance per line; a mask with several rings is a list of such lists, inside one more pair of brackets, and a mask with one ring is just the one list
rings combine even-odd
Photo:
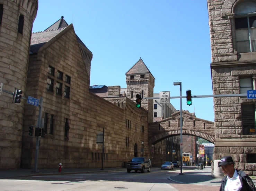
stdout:
[[[184,167],[183,172],[191,171],[193,169]],[[180,172],[179,168],[174,170],[161,170],[158,168],[151,169],[151,172],[145,171],[137,173],[131,171],[127,173],[126,170],[114,172],[95,172],[84,174],[59,174],[35,177],[20,177],[0,180],[0,190],[92,190],[112,191],[119,189],[139,190],[139,191],[183,191],[183,190],[197,190],[200,191],[200,186],[195,184],[180,184],[170,181],[168,177],[176,176]],[[189,189],[188,189],[189,185]],[[193,189],[194,187],[194,189]],[[202,186],[202,190],[206,187]],[[209,190],[217,191],[219,187],[210,187]]]

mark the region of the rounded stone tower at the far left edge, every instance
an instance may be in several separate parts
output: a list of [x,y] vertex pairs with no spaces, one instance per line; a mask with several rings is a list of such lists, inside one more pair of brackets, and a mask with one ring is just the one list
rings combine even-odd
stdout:
[[[28,55],[37,0],[0,0],[0,82],[3,89],[27,87]],[[24,95],[24,94],[23,94]],[[0,96],[0,169],[19,168],[23,137],[24,101],[12,103],[12,95]]]

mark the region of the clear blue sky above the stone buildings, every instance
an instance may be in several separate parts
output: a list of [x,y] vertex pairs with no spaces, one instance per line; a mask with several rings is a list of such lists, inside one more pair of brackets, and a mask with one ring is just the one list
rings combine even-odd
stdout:
[[[212,94],[206,0],[39,0],[33,32],[64,16],[93,53],[90,85],[126,88],[125,73],[140,59],[155,77],[154,93]],[[180,109],[179,99],[171,99]],[[213,121],[213,98],[183,99],[182,109]]]

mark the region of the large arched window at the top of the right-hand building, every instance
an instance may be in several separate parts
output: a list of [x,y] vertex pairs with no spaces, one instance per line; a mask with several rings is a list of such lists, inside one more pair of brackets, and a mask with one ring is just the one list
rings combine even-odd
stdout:
[[242,1],[234,13],[237,52],[256,52],[256,1]]

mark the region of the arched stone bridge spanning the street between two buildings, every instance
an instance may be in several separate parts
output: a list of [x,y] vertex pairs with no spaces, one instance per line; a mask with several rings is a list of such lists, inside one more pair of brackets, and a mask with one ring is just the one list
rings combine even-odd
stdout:
[[[182,111],[183,135],[192,135],[214,143],[214,122],[196,118],[192,113]],[[180,135],[180,111],[171,117],[149,124],[149,144],[155,144],[161,140],[175,135]]]

